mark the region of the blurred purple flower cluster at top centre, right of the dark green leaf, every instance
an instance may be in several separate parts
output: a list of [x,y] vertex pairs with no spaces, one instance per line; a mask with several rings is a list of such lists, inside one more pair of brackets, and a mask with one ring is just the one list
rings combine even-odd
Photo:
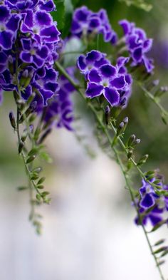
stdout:
[[112,30],[104,9],[100,9],[98,13],[90,11],[86,6],[76,9],[73,14],[71,33],[78,37],[95,36],[101,33],[105,42],[114,44],[117,41],[117,35]]

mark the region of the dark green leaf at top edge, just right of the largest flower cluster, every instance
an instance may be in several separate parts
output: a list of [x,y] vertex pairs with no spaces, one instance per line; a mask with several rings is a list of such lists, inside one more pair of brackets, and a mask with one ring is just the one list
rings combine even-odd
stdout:
[[54,0],[56,11],[51,12],[53,20],[57,21],[58,29],[62,30],[65,24],[65,3],[64,0]]

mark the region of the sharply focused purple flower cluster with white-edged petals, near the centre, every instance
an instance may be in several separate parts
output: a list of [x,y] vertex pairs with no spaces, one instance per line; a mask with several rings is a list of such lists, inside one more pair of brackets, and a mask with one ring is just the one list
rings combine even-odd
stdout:
[[93,50],[78,58],[78,68],[88,81],[86,96],[104,95],[110,105],[123,107],[127,105],[132,85],[132,78],[125,68],[129,58],[120,57],[116,66],[112,66],[105,56],[105,53]]

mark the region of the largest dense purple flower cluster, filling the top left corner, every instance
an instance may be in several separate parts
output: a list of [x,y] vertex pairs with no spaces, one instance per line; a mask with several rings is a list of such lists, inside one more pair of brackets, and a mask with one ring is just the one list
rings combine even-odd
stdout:
[[43,106],[58,90],[53,63],[60,32],[48,13],[55,8],[53,0],[6,0],[0,6],[0,88],[25,100],[41,95]]

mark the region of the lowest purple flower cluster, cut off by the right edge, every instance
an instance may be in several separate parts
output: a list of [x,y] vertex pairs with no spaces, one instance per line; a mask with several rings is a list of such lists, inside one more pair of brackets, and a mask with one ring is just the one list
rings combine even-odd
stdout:
[[[152,178],[150,182],[154,182],[156,179]],[[142,223],[147,224],[149,220],[153,226],[162,222],[165,211],[168,211],[168,197],[164,195],[168,191],[168,185],[164,185],[161,181],[158,184],[159,192],[163,192],[162,195],[158,195],[154,187],[149,182],[142,180],[142,187],[140,187],[140,201],[137,202],[137,206],[142,217]],[[137,224],[140,223],[139,218],[135,219]]]

